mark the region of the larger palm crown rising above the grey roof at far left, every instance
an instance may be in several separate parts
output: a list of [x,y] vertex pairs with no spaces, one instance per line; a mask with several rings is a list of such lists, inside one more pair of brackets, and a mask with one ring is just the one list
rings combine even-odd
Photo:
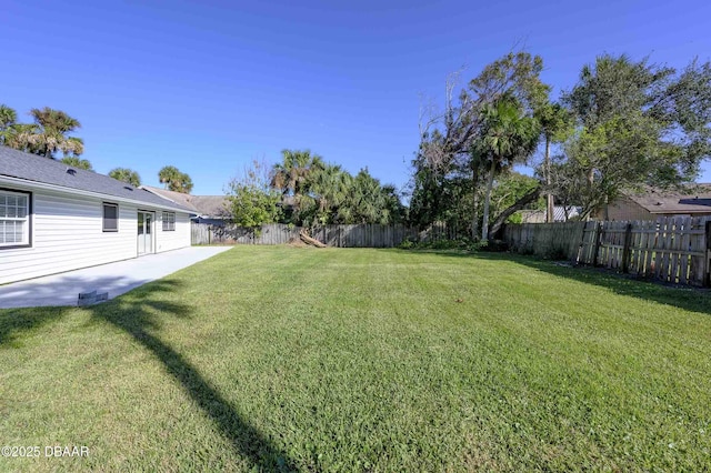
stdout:
[[34,119],[34,128],[26,130],[20,141],[27,141],[31,151],[46,158],[54,158],[57,151],[76,157],[83,153],[83,141],[68,135],[81,128],[78,120],[49,107],[32,109],[30,115]]

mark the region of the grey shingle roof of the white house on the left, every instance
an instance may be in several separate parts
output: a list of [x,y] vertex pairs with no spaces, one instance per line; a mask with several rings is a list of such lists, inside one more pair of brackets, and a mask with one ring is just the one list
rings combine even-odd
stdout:
[[0,178],[16,178],[28,183],[41,183],[83,191],[108,198],[138,201],[161,209],[190,211],[191,209],[162,199],[140,188],[99,174],[76,169],[53,159],[39,157],[0,145]]

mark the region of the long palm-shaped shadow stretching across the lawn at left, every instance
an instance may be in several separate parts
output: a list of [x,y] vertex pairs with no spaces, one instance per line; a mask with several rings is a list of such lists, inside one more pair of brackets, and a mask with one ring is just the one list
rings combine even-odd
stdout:
[[[149,283],[90,311],[93,322],[103,321],[128,333],[161,362],[166,371],[180,383],[184,392],[208,415],[220,433],[230,441],[234,452],[260,471],[296,471],[292,461],[268,437],[259,432],[208,382],[182,354],[156,333],[168,318],[189,319],[191,308],[168,296],[181,290],[177,280],[164,279]],[[0,328],[6,336],[16,338],[23,329],[34,329],[59,320],[73,308],[13,310],[2,314]],[[14,313],[14,319],[13,319]],[[47,314],[43,319],[42,314]]]

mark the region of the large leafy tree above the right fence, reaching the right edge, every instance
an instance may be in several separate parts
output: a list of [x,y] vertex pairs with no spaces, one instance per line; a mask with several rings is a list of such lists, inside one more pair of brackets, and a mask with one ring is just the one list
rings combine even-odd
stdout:
[[711,155],[711,66],[683,71],[601,56],[562,98],[575,120],[559,177],[578,190],[582,214],[622,190],[692,181]]

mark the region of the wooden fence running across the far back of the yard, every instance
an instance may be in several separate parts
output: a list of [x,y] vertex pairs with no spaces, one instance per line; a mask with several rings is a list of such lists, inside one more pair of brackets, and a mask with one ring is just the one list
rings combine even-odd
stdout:
[[[251,229],[227,225],[213,227],[207,223],[191,224],[192,244],[284,244],[299,238],[301,227],[271,223],[262,225],[259,235]],[[322,225],[309,234],[337,248],[393,248],[405,240],[437,241],[453,239],[452,230],[444,224],[433,224],[419,231],[407,225]]]

